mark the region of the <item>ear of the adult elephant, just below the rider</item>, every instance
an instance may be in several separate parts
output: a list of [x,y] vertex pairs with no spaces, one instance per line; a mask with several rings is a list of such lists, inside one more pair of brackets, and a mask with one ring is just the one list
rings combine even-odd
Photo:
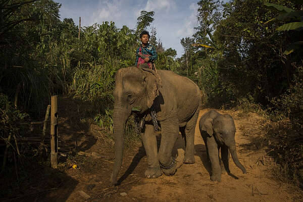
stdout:
[[142,68],[143,81],[146,87],[147,107],[151,108],[155,98],[159,95],[159,88],[162,87],[161,79],[157,72]]

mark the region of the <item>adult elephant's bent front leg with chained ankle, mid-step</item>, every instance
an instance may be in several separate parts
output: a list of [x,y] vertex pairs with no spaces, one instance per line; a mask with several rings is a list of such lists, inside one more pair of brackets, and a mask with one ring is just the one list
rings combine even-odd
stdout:
[[179,135],[179,123],[177,112],[173,111],[169,117],[161,122],[161,144],[159,149],[159,161],[165,175],[173,175],[177,171],[177,165],[172,158],[172,150]]

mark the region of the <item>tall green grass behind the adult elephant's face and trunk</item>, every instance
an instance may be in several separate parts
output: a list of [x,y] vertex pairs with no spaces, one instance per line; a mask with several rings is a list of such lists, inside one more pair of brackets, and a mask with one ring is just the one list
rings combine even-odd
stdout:
[[[94,122],[99,125],[109,138],[113,135],[113,91],[115,87],[116,71],[128,65],[127,61],[107,57],[103,64],[81,63],[74,69],[73,82],[69,86],[72,94],[82,100],[92,103],[95,114],[92,115]],[[131,142],[137,139],[134,132],[134,121],[130,118],[126,124],[125,139]]]

